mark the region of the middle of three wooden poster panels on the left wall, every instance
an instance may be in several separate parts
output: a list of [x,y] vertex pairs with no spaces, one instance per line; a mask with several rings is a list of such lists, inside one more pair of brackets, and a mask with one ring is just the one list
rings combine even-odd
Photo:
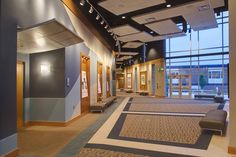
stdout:
[[97,101],[102,100],[102,64],[97,63]]

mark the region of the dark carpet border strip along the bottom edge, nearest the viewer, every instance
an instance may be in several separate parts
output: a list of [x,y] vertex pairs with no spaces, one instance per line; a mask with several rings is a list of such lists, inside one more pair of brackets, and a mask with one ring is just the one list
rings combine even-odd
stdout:
[[144,155],[150,157],[196,157],[190,155],[182,155],[182,154],[173,154],[168,152],[160,152],[160,151],[149,151],[143,149],[135,149],[135,148],[127,148],[127,147],[119,147],[105,144],[87,144],[84,148],[95,148],[95,149],[104,149],[115,152],[123,152],[123,153],[132,153],[137,155]]

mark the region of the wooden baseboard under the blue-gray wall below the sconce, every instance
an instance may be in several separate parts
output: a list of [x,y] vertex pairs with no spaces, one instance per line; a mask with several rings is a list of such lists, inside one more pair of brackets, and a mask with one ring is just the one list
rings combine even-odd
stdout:
[[30,126],[56,126],[56,127],[66,127],[73,123],[74,121],[80,119],[84,115],[86,115],[88,112],[84,112],[81,115],[74,117],[73,119],[67,121],[67,122],[44,122],[44,121],[29,121],[25,123],[25,127]]

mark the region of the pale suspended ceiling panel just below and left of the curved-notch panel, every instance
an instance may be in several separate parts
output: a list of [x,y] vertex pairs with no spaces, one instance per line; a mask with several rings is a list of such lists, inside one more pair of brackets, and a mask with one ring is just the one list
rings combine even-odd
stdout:
[[146,32],[141,32],[141,33],[118,37],[118,40],[123,41],[123,42],[137,41],[137,40],[143,42],[151,38],[153,38],[153,36],[151,36],[150,34]]

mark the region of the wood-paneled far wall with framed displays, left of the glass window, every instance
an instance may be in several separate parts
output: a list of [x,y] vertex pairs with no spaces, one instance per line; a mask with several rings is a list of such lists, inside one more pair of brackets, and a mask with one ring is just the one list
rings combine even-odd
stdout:
[[[155,68],[153,68],[155,67]],[[137,69],[137,76],[135,78],[135,69]],[[155,72],[153,72],[153,70]],[[134,91],[134,86],[136,92],[145,91],[150,95],[154,94],[158,97],[165,97],[165,62],[164,59],[156,59],[149,62],[135,64],[129,67],[125,67],[125,87],[128,89],[128,84],[130,80],[128,80],[127,75],[131,74],[132,76],[132,87],[131,89]],[[155,74],[155,77],[152,75]],[[153,80],[153,78],[155,80]],[[156,90],[153,90],[156,88]],[[155,91],[154,93],[152,91]]]

